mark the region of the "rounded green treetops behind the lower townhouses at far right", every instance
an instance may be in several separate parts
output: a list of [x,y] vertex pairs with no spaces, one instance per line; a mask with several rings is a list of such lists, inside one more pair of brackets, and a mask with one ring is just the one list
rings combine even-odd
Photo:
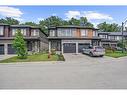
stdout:
[[121,27],[116,23],[108,24],[106,22],[103,22],[103,23],[98,24],[97,27],[103,32],[119,32],[119,31],[121,31]]

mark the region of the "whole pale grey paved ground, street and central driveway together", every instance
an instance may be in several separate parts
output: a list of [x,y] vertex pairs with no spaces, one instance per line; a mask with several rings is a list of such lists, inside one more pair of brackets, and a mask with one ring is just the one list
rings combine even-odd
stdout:
[[65,54],[65,62],[0,65],[0,89],[126,89],[127,57]]

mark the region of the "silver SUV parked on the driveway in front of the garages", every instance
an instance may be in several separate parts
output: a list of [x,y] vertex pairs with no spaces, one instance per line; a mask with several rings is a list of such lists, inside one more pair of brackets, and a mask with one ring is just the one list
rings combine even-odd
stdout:
[[101,46],[89,46],[88,48],[83,48],[82,53],[90,56],[103,57],[105,54],[105,49]]

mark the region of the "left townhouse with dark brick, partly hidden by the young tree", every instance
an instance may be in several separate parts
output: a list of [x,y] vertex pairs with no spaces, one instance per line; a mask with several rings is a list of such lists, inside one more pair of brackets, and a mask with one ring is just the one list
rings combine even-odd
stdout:
[[28,52],[40,52],[48,48],[47,35],[38,27],[0,24],[0,55],[15,54],[12,46],[17,29],[21,30]]

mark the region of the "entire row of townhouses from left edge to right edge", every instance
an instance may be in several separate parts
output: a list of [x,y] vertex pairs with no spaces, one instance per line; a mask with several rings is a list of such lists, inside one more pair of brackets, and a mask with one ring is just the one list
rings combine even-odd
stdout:
[[[55,49],[61,53],[81,53],[89,45],[116,47],[122,39],[121,32],[98,32],[96,28],[84,26],[50,27],[47,35],[38,27],[0,24],[0,55],[15,54],[12,43],[17,29],[24,35],[28,52]],[[124,32],[124,39],[127,39],[127,32]]]

